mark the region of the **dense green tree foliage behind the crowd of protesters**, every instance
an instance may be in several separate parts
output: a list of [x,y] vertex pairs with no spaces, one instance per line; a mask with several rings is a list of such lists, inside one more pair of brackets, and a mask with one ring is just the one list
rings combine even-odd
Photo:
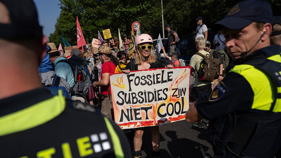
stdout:
[[[103,37],[102,31],[110,29],[112,37],[131,34],[134,21],[141,24],[143,33],[150,34],[153,39],[163,36],[161,0],[59,0],[62,9],[55,24],[54,33],[50,34],[49,42],[56,45],[63,42],[59,35],[70,44],[77,44],[76,16],[81,26],[86,43],[91,43],[98,37],[97,31]],[[203,23],[210,27],[216,21],[224,18],[227,12],[238,1],[229,0],[162,0],[164,25],[170,24],[179,37],[195,31],[198,16],[203,17]],[[267,0],[273,9],[273,15],[281,15],[280,0]],[[164,31],[167,37],[167,31]],[[163,38],[163,37],[162,37]]]

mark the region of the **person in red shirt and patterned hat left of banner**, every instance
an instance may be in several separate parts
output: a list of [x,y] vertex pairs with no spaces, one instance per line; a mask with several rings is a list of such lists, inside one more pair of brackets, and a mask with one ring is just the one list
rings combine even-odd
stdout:
[[119,61],[115,56],[112,55],[110,47],[101,46],[97,54],[102,63],[101,80],[98,82],[94,82],[93,86],[101,87],[101,95],[103,99],[101,102],[101,114],[103,114],[107,118],[111,118],[112,120],[114,120],[111,89],[109,86],[109,74],[115,73],[115,68],[118,65]]

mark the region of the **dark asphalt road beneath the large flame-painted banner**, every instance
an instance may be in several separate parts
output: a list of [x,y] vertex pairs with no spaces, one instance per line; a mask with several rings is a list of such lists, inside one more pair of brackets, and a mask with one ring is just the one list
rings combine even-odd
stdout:
[[[206,137],[206,130],[206,126],[204,128],[194,127],[185,120],[160,125],[161,158],[200,158],[200,152],[197,150],[199,146],[204,146],[205,151],[213,155],[212,146]],[[133,150],[134,130],[126,135]],[[149,127],[145,127],[141,150],[142,158],[151,157],[152,144]]]

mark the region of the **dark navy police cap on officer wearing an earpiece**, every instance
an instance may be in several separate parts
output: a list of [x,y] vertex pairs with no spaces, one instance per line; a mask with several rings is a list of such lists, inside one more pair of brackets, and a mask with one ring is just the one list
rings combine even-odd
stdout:
[[212,31],[228,27],[232,30],[242,29],[253,22],[272,24],[273,14],[271,6],[266,1],[247,0],[232,7],[225,18],[211,26]]

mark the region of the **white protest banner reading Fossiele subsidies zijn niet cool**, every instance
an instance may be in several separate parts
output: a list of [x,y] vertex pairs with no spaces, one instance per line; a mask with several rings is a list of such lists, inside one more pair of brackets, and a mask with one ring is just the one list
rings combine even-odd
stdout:
[[190,66],[110,74],[115,122],[121,129],[185,119]]

